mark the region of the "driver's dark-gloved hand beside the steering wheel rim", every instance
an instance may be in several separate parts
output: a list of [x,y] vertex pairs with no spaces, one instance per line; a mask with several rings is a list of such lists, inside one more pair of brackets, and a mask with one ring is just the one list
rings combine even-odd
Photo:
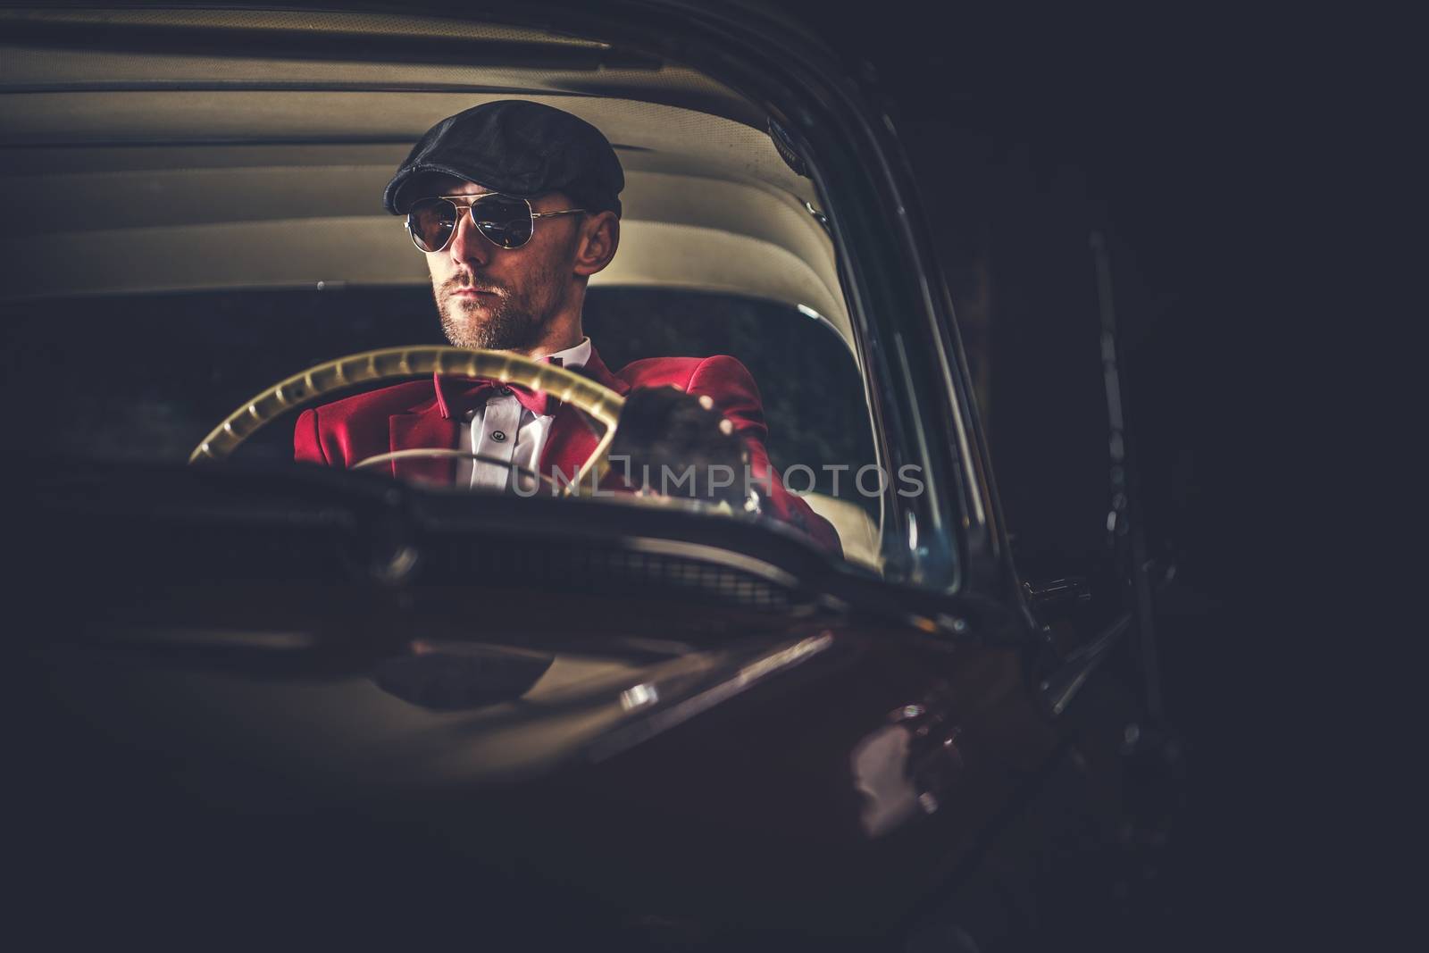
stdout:
[[740,507],[746,461],[745,441],[707,396],[677,387],[626,394],[610,463],[637,490]]

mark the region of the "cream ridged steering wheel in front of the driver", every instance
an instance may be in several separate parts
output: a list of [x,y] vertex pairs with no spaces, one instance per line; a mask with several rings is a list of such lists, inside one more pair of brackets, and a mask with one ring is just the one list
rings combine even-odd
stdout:
[[[610,390],[604,384],[589,377],[543,364],[520,354],[496,350],[467,350],[464,347],[447,347],[437,344],[420,344],[413,347],[387,347],[384,350],[370,350],[360,354],[339,357],[282,380],[263,393],[257,394],[231,414],[224,417],[217,427],[209,433],[203,441],[194,447],[189,456],[189,463],[207,463],[223,460],[239,444],[253,436],[259,427],[273,420],[279,414],[300,407],[323,394],[342,390],[353,384],[364,384],[377,380],[392,380],[396,377],[412,377],[417,374],[456,374],[462,377],[483,377],[509,384],[519,384],[532,390],[543,390],[562,403],[572,404],[594,417],[603,427],[596,449],[590,451],[586,461],[576,471],[563,490],[580,493],[586,487],[586,477],[594,473],[592,486],[604,476],[610,467],[610,443],[616,436],[616,426],[620,421],[620,409],[624,397]],[[374,463],[397,457],[412,456],[472,456],[462,450],[446,447],[397,450],[367,457],[352,469],[366,467]],[[517,467],[524,470],[524,467]]]

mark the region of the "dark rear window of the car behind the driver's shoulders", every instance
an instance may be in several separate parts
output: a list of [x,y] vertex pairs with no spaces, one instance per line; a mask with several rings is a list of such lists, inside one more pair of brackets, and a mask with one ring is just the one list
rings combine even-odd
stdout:
[[[859,469],[875,463],[863,384],[827,324],[777,303],[653,289],[596,289],[584,319],[613,367],[672,354],[737,359],[759,384],[773,467],[795,469],[792,492],[829,514],[840,540],[876,527],[877,496],[856,486]],[[340,353],[446,343],[422,287],[10,301],[0,304],[0,333],[7,389],[49,394],[67,421],[24,419],[17,436],[29,453],[174,464],[266,383]],[[297,414],[256,431],[233,461],[290,461]]]

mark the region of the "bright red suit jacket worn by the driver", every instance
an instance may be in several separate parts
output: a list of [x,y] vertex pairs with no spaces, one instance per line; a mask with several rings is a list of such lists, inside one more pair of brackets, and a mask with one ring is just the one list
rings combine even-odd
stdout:
[[[765,407],[749,370],[727,356],[652,357],[627,364],[612,374],[604,361],[590,350],[580,371],[624,396],[636,387],[673,386],[690,394],[709,394],[714,406],[735,424],[749,449],[750,471],[756,480],[767,477],[772,492],[760,490],[766,516],[790,523],[812,536],[825,549],[842,554],[839,534],[809,504],[789,493],[779,474],[769,466],[765,439]],[[293,456],[299,461],[347,467],[392,450],[417,447],[456,449],[462,436],[463,399],[476,386],[459,377],[434,376],[347,397],[304,410],[293,433]],[[456,411],[453,413],[453,407]],[[573,407],[559,407],[542,450],[539,470],[557,467],[567,477],[590,456],[597,443],[596,430]],[[453,483],[456,464],[443,459],[393,460],[397,477]]]

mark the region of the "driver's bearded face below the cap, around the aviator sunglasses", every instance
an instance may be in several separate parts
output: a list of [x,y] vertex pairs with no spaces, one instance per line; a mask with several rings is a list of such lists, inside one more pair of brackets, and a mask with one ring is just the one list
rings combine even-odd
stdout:
[[[423,194],[479,196],[487,189],[454,177],[433,179]],[[562,193],[532,200],[536,211],[570,209]],[[502,249],[460,210],[450,244],[427,254],[432,291],[442,330],[456,347],[530,350],[542,343],[552,319],[567,304],[582,216],[537,219],[532,239]]]

